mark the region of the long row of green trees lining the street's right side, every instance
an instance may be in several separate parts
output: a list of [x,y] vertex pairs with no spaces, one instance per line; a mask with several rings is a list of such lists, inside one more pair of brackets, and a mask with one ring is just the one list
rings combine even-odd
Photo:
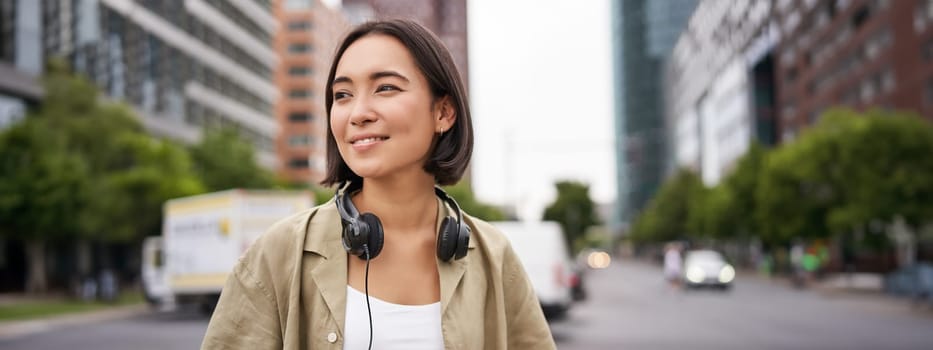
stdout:
[[[637,218],[636,241],[828,239],[933,221],[933,126],[915,115],[833,109],[776,149],[752,145],[713,188],[680,172]],[[685,224],[684,224],[685,223]]]

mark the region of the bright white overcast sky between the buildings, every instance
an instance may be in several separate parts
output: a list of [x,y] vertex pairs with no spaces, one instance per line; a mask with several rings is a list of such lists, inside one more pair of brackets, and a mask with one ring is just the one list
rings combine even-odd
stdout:
[[480,200],[538,219],[554,182],[615,200],[609,0],[468,0]]

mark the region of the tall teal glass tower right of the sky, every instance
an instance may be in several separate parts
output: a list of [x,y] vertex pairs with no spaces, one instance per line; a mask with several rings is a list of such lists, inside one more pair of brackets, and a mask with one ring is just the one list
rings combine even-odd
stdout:
[[667,158],[662,71],[695,0],[612,2],[617,205],[614,224],[644,207]]

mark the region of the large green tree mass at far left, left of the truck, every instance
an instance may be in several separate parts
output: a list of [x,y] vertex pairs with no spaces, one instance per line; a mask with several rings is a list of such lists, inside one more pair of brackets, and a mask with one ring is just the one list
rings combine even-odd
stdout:
[[165,200],[203,191],[183,148],[147,135],[64,64],[51,61],[42,82],[41,105],[0,133],[0,231],[36,243],[27,286],[39,291],[43,242],[157,234]]

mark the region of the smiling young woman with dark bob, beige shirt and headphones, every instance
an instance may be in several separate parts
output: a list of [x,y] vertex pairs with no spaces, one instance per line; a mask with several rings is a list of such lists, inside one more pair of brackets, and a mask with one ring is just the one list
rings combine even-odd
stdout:
[[441,41],[406,20],[354,28],[325,105],[335,198],[249,248],[202,348],[554,348],[507,239],[436,187],[460,179],[473,147]]

